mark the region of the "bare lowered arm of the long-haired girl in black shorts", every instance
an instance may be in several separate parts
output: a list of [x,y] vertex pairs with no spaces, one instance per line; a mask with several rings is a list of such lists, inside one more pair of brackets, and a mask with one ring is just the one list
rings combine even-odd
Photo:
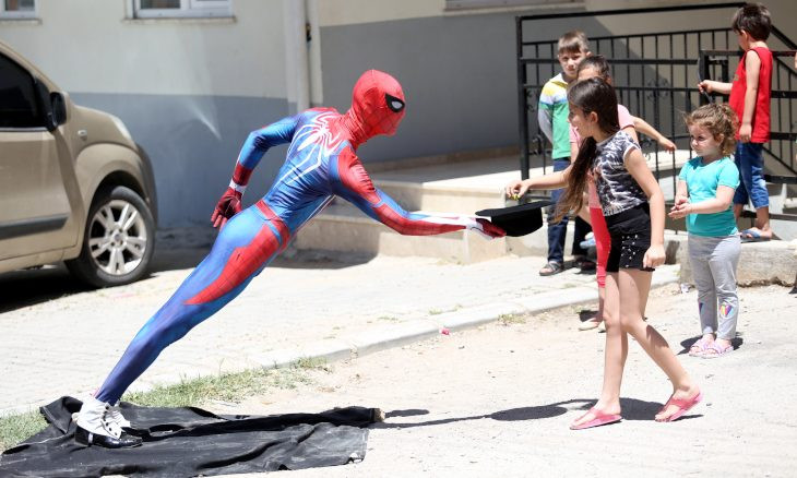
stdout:
[[645,252],[642,265],[645,267],[656,267],[664,264],[664,194],[662,188],[658,187],[656,178],[647,167],[645,157],[638,148],[631,150],[626,155],[626,169],[631,174],[634,181],[642,188],[647,195],[647,202],[651,204],[651,248]]

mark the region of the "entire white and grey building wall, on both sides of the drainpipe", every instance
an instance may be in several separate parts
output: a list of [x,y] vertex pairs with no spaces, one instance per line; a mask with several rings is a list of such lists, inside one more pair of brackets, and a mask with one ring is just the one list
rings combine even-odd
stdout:
[[[204,225],[249,131],[296,109],[286,2],[235,0],[234,19],[129,20],[128,0],[37,0],[40,22],[0,21],[0,39],[76,103],[120,117],[153,160],[162,227]],[[366,164],[518,143],[518,14],[688,2],[585,0],[534,9],[447,10],[444,0],[306,0],[309,99],[345,111],[358,75],[394,74],[407,115],[394,138],[358,152]],[[792,0],[766,2],[797,38]],[[725,26],[723,14],[540,22],[534,38]],[[246,201],[265,192],[285,148],[266,155]]]

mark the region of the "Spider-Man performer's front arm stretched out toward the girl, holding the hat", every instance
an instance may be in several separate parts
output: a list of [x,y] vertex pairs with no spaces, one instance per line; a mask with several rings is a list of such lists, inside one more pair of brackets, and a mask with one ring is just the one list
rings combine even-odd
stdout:
[[370,217],[398,234],[430,236],[471,229],[489,238],[502,237],[503,229],[487,219],[462,215],[429,215],[408,213],[388,194],[377,189],[350,148],[343,150],[330,165],[335,194],[352,202]]

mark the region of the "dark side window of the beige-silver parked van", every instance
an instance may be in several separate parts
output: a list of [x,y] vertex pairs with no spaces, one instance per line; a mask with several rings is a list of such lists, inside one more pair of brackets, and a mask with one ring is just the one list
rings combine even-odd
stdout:
[[33,76],[0,55],[0,128],[44,127]]

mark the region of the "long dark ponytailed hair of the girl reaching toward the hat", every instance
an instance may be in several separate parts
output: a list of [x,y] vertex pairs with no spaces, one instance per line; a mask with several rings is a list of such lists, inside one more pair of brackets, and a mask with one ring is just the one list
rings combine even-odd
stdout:
[[[620,131],[617,119],[617,94],[604,80],[591,77],[573,84],[568,91],[568,101],[571,108],[579,108],[584,116],[595,112],[598,128],[604,133],[615,134]],[[579,155],[570,168],[568,187],[559,200],[555,220],[561,220],[570,211],[579,211],[584,204],[586,181],[595,156],[597,156],[597,142],[592,136],[584,138],[579,145]]]

